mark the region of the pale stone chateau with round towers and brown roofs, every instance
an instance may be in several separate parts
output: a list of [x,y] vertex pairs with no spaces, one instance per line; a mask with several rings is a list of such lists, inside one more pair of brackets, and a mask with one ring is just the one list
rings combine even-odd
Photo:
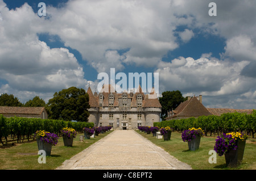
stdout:
[[113,129],[137,129],[153,126],[160,121],[162,106],[154,88],[144,94],[141,86],[137,91],[117,93],[112,85],[104,85],[99,93],[87,90],[89,95],[89,122],[95,126],[111,125]]

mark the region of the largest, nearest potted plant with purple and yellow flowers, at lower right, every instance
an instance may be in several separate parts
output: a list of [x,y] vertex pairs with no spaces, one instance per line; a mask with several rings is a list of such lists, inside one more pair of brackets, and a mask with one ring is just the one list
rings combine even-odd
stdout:
[[217,137],[214,150],[219,156],[225,155],[226,166],[241,165],[247,137],[246,134],[238,132],[223,133]]

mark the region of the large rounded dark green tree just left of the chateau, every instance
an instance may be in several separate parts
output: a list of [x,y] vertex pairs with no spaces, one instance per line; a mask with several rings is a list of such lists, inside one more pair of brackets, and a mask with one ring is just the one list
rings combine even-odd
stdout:
[[76,87],[55,92],[47,104],[49,119],[65,121],[88,121],[89,108],[89,95],[84,89]]

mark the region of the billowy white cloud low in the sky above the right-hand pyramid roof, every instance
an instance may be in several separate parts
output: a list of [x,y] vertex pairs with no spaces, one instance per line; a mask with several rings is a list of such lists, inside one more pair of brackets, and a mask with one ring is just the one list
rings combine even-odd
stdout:
[[[205,54],[204,54],[205,56]],[[162,91],[177,89],[183,92],[197,92],[204,95],[225,95],[247,90],[251,80],[240,75],[247,61],[229,62],[216,58],[191,57],[161,62],[156,70]],[[239,88],[239,89],[238,89]]]

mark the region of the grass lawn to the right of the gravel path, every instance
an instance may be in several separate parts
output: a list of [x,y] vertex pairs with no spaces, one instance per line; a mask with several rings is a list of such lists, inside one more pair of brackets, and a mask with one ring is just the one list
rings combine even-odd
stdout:
[[[187,142],[183,142],[181,139],[181,133],[172,132],[171,140],[164,141],[162,139],[156,139],[152,134],[146,134],[144,132],[137,131],[142,136],[146,137],[148,140],[153,142],[155,145],[158,145],[160,148],[166,150],[169,154],[173,155],[175,158],[179,159],[181,162],[191,165],[192,169],[196,170],[220,170],[220,169],[230,169],[226,167],[225,157],[218,156],[217,154],[217,163],[209,163],[209,157],[212,154],[209,154],[210,150],[214,149],[216,136],[204,136],[201,137],[200,148],[196,151],[190,151],[188,149]],[[256,169],[256,138],[249,137],[246,140],[245,153],[243,154],[242,165],[236,169],[246,169],[246,170],[255,170]]]

